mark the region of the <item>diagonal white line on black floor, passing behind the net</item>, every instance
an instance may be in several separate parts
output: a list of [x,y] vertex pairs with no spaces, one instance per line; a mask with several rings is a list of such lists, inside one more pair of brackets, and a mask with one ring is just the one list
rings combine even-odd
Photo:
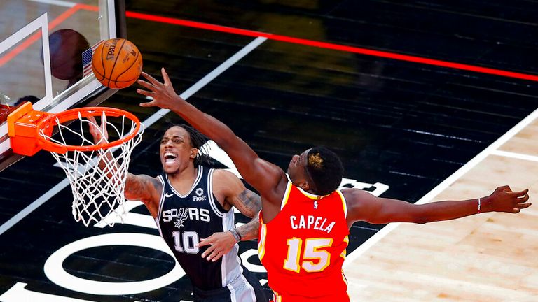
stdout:
[[[196,82],[194,85],[192,85],[190,88],[188,88],[184,93],[181,94],[181,98],[188,99],[190,96],[195,94],[195,92],[198,92],[198,90],[202,89],[205,85],[209,84],[214,78],[219,76],[221,73],[226,71],[226,69],[230,68],[230,66],[233,66],[233,64],[237,63],[240,59],[242,59],[244,56],[248,55],[249,52],[254,50],[258,45],[265,42],[267,38],[258,37],[255,38],[254,41],[246,45],[244,48],[242,48],[239,52],[235,53],[232,57],[227,59],[225,62],[223,62],[221,65],[216,67],[212,72],[208,73],[204,78]],[[170,110],[160,109],[157,111],[157,113],[154,113],[149,117],[147,120],[142,122],[145,127],[151,126],[154,122],[157,122],[161,117],[165,116],[167,113],[169,113]],[[4,222],[0,226],[0,235],[3,234],[5,231],[13,227],[13,225],[17,224],[22,220],[22,218],[29,215],[29,213],[32,213],[33,210],[41,206],[43,203],[48,201],[50,198],[55,196],[58,192],[60,192],[62,189],[67,187],[69,185],[69,180],[65,178],[60,183],[55,185],[52,189],[48,190],[45,194],[43,194],[39,199],[36,199],[34,202],[30,203],[26,208],[21,210],[17,215],[11,217],[10,220],[7,222]]]

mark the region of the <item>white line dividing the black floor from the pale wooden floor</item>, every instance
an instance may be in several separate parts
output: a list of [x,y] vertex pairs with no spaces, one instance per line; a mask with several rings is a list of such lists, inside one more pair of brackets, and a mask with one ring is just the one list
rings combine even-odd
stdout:
[[[512,129],[510,129],[508,132],[506,132],[503,136],[497,139],[497,141],[493,142],[491,145],[488,146],[488,148],[485,148],[482,152],[478,153],[476,157],[471,159],[467,164],[464,164],[461,168],[459,168],[453,175],[450,175],[446,180],[443,180],[437,187],[434,187],[432,191],[428,192],[425,196],[422,196],[421,199],[419,199],[415,204],[422,204],[427,203],[431,201],[435,196],[439,195],[441,192],[443,192],[447,187],[453,184],[456,180],[460,179],[462,175],[469,172],[471,168],[474,168],[477,164],[479,164],[485,157],[488,157],[490,154],[494,154],[502,144],[506,143],[510,138],[518,134],[521,129],[527,127],[531,122],[536,120],[538,117],[538,109],[534,110],[530,115],[525,117],[521,122],[516,124]],[[350,252],[345,257],[345,262],[343,267],[346,268],[350,264],[353,263],[353,261],[361,256],[361,254],[364,254],[370,247],[375,245],[375,243],[378,243],[379,240],[381,240],[383,237],[385,237],[390,231],[393,229],[396,229],[396,227],[399,226],[400,223],[391,223],[387,224],[387,226],[383,227],[375,233],[373,236],[368,238],[363,244],[361,244],[359,247],[357,247],[356,250],[353,252]]]

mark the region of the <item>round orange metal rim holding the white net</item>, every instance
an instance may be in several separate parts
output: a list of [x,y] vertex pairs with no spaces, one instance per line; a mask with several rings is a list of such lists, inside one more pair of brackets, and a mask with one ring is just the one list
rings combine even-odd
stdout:
[[[49,141],[47,138],[44,138],[39,134],[39,131],[41,129],[45,129],[47,127],[54,127],[55,125],[62,124],[64,122],[70,121],[70,120],[76,120],[78,119],[78,115],[80,114],[81,117],[88,117],[88,116],[102,116],[102,114],[106,115],[107,117],[120,117],[125,115],[129,120],[132,122],[135,122],[137,124],[137,127],[127,136],[118,139],[117,141],[113,141],[110,143],[104,143],[101,145],[62,145],[59,143],[54,143],[52,141]],[[56,122],[56,119],[58,120],[58,123]],[[37,140],[39,145],[43,147],[44,150],[47,150],[49,152],[56,152],[63,154],[67,151],[95,151],[95,150],[104,150],[116,147],[118,145],[121,145],[125,143],[126,141],[129,141],[130,139],[134,138],[140,129],[140,121],[138,120],[138,117],[133,115],[132,113],[121,110],[118,108],[110,108],[110,107],[84,107],[84,108],[75,108],[70,110],[62,111],[61,113],[56,113],[53,115],[50,115],[43,120],[41,120],[38,124],[36,124],[36,131],[37,131]]]

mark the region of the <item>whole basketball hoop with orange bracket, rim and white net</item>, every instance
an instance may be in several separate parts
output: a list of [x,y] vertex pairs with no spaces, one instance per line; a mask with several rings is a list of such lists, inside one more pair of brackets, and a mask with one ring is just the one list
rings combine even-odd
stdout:
[[[103,129],[88,117],[106,121],[109,140],[114,141],[106,141]],[[89,132],[91,124],[103,136],[98,143]],[[50,114],[25,103],[8,116],[13,152],[33,155],[43,149],[55,157],[71,183],[73,216],[86,227],[103,220],[113,227],[113,219],[105,220],[109,215],[123,222],[127,168],[143,132],[135,115],[117,108],[85,107]]]

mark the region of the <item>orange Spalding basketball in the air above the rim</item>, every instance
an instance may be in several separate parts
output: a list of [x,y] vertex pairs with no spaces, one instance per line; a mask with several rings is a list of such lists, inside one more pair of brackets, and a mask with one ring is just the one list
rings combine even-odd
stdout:
[[124,38],[111,38],[99,45],[92,57],[95,78],[113,89],[129,87],[142,72],[142,55]]

